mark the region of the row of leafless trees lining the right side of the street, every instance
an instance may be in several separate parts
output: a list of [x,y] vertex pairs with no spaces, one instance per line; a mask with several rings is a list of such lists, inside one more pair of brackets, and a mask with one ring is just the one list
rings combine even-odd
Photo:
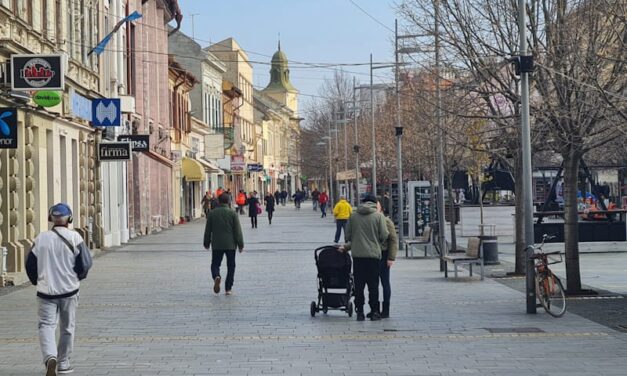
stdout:
[[[405,31],[422,35],[412,41],[413,47],[425,51],[406,57],[415,64],[401,74],[405,179],[436,181],[435,78],[439,72],[443,93],[440,124],[445,135],[448,176],[452,177],[455,169],[465,169],[474,172],[473,179],[480,185],[479,175],[487,160],[513,156],[516,191],[520,192],[519,78],[511,64],[512,58],[519,55],[517,3],[517,0],[399,2],[398,12]],[[584,156],[611,156],[619,164],[626,159],[627,0],[527,0],[526,11],[525,33],[535,61],[530,101],[533,150],[535,154],[544,153],[563,162],[567,290],[576,294],[581,291],[577,224],[579,163]],[[438,71],[429,59],[436,30],[439,30],[444,67]],[[395,93],[389,94],[375,111],[379,182],[394,179],[396,174]],[[317,139],[328,133],[337,112],[346,110],[345,103],[352,99],[352,83],[346,75],[337,73],[325,83],[321,96],[325,98],[312,104],[307,114],[311,137]],[[368,161],[372,154],[369,111],[355,116],[358,116],[361,159]],[[304,165],[307,158],[315,158],[306,153],[303,156]],[[326,160],[324,149],[317,158]],[[335,162],[332,159],[331,163]],[[314,167],[321,165],[314,163]],[[517,233],[522,233],[520,197],[516,195]],[[524,272],[526,245],[522,238],[516,237],[518,273]]]

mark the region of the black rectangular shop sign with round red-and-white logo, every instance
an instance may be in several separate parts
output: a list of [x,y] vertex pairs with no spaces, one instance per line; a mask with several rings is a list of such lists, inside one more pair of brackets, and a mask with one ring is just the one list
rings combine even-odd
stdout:
[[11,89],[63,90],[65,58],[54,55],[11,55]]

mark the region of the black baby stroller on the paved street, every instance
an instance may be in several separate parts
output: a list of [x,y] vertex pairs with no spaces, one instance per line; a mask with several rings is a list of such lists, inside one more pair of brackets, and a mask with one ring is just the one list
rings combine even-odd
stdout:
[[[353,261],[348,253],[338,252],[336,246],[324,246],[314,251],[318,268],[318,302],[311,302],[311,317],[317,312],[336,309],[353,317]],[[329,289],[343,290],[329,292]]]

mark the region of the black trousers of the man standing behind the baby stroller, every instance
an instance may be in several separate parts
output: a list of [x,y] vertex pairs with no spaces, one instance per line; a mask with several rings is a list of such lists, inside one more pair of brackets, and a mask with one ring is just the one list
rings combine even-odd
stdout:
[[354,258],[355,310],[364,311],[364,288],[368,285],[368,305],[372,312],[379,311],[379,263],[373,258]]

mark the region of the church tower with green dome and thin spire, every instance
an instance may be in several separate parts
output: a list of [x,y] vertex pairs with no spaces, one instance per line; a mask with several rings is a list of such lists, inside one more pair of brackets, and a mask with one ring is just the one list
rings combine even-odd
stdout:
[[290,82],[287,56],[281,51],[281,41],[278,51],[272,55],[270,83],[263,89],[263,93],[285,105],[294,115],[298,114],[298,90]]

